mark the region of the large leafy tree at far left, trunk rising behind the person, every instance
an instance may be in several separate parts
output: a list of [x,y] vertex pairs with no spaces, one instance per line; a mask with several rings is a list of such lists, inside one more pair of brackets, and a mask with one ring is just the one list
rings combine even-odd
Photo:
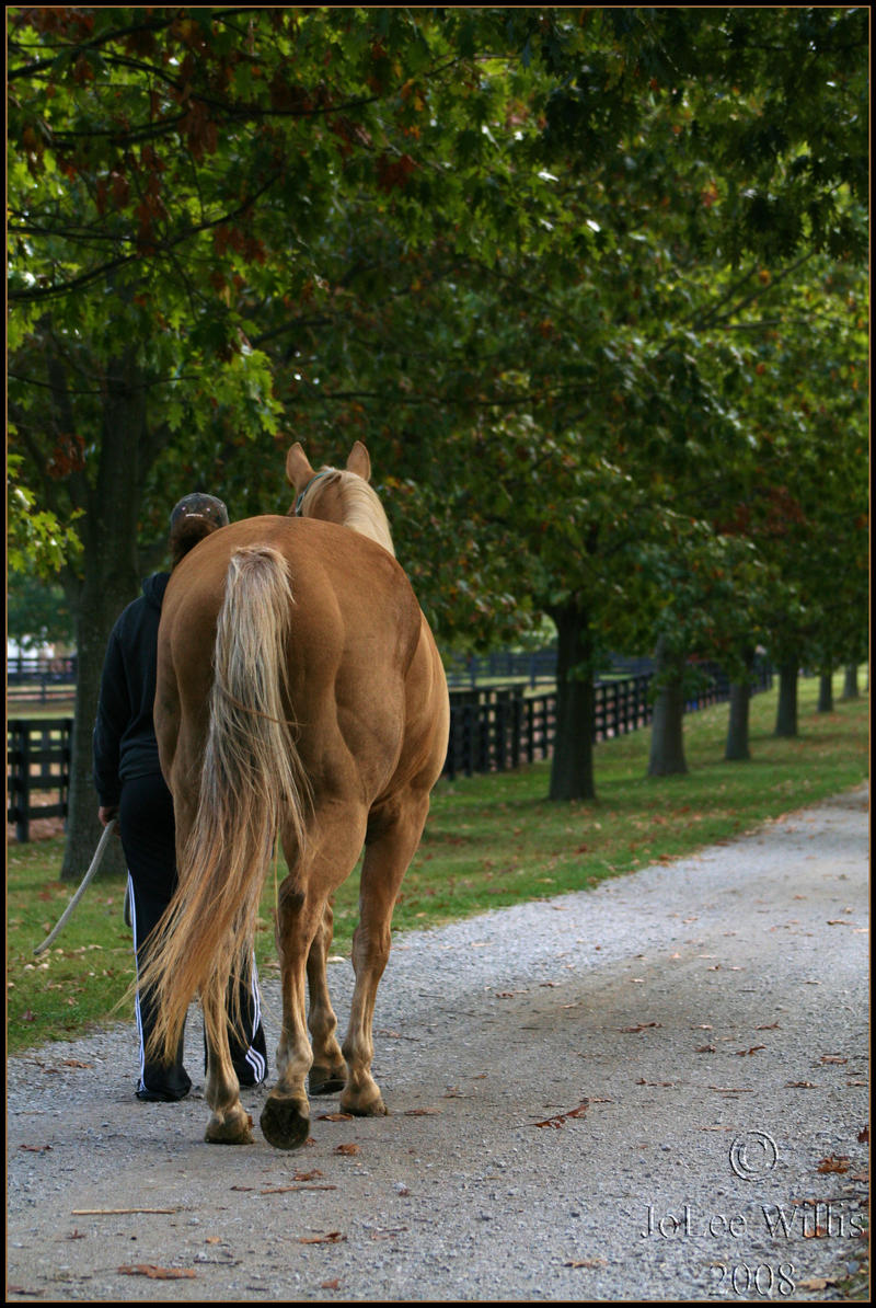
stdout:
[[81,514],[81,566],[63,570],[80,653],[69,875],[94,841],[90,723],[139,542],[154,557],[177,496],[233,464],[247,498],[276,476],[264,460],[252,476],[242,454],[273,437],[280,408],[252,314],[294,306],[292,322],[265,319],[281,335],[318,323],[324,301],[337,311],[326,271],[341,233],[324,232],[346,196],[382,212],[418,173],[424,222],[437,192],[442,212],[454,194],[460,208],[464,174],[435,152],[496,98],[477,42],[498,18],[13,9],[8,22],[16,453],[56,521]]

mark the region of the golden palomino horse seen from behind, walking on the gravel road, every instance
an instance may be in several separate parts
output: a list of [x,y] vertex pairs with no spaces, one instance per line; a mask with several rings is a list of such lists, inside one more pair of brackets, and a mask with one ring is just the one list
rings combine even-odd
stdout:
[[[301,446],[286,468],[297,488],[316,476]],[[252,1138],[225,997],[230,978],[251,967],[277,836],[289,867],[276,923],[282,1032],[261,1130],[277,1148],[307,1139],[309,1074],[311,1093],[343,1086],[345,1112],[386,1112],[370,1070],[374,1002],[399,887],[445,763],[450,710],[431,632],[360,475],[369,471],[357,442],[346,471],[323,470],[310,492],[302,483],[305,515],[213,532],[174,569],[163,600],[154,717],[174,795],[179,887],[141,982],[158,999],[154,1042],[165,1056],[200,993],[211,1142]],[[331,899],[362,845],[341,1049],[326,984]]]

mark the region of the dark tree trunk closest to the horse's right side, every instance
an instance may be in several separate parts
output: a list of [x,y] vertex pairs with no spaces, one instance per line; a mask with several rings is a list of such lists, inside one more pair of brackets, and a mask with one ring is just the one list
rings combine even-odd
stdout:
[[550,764],[550,799],[595,799],[594,666],[587,615],[554,610],[557,624],[557,734]]

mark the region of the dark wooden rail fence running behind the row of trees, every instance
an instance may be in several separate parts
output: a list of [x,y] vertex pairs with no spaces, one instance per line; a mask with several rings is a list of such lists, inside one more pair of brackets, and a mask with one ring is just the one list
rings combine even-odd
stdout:
[[[702,688],[690,696],[688,712],[730,698],[727,676],[701,666]],[[652,717],[652,672],[618,676],[594,687],[594,742],[611,740],[649,726]],[[753,691],[773,684],[767,663],[760,664]],[[8,821],[20,841],[29,838],[37,818],[67,818],[72,718],[18,718],[8,723]],[[443,776],[506,772],[547,759],[557,731],[556,691],[526,695],[523,684],[492,688],[451,688],[450,742]],[[55,803],[35,803],[35,794],[56,794]]]

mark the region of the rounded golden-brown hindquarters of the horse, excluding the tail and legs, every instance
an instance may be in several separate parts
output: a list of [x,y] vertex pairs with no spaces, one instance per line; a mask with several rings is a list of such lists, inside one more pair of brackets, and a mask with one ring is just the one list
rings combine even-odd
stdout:
[[380,545],[316,519],[248,518],[207,536],[178,565],[162,606],[157,710],[170,693],[180,714],[200,718],[192,730],[205,730],[229,564],[252,547],[277,551],[289,569],[289,710],[309,773],[349,777],[353,760],[374,797],[400,761],[434,770],[443,674],[413,590]]

